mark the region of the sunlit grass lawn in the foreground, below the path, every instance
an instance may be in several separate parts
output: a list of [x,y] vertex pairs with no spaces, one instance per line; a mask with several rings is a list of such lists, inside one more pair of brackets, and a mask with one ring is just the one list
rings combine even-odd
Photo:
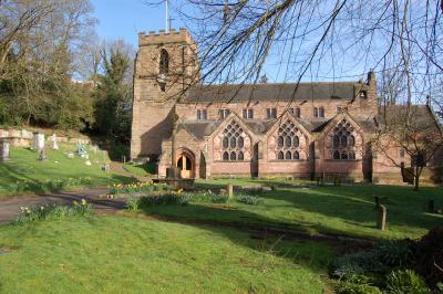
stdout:
[[334,251],[213,227],[92,216],[0,227],[1,293],[322,293]]

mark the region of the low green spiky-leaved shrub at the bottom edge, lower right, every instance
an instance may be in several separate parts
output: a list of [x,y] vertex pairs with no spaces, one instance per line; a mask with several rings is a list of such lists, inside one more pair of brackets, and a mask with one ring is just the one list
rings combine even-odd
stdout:
[[424,280],[412,270],[396,270],[387,279],[388,293],[427,294],[431,293]]

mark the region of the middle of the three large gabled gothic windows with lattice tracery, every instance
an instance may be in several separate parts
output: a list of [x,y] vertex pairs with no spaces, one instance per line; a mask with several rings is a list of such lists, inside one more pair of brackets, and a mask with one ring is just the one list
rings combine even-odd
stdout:
[[280,125],[277,130],[276,147],[278,160],[300,159],[300,154],[298,151],[300,146],[300,136],[302,136],[301,132],[290,119],[284,122]]

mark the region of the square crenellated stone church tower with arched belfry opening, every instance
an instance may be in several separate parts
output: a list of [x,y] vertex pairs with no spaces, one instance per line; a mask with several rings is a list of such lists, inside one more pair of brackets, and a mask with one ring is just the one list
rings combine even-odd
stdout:
[[174,105],[198,81],[197,45],[186,29],[138,34],[131,158],[157,156],[172,135]]

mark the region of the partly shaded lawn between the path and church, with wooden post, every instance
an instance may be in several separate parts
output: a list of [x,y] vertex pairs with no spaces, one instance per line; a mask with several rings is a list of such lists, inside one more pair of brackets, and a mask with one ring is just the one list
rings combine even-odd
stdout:
[[[226,185],[228,180],[198,182],[205,188]],[[260,180],[234,181],[235,185],[260,183]],[[275,183],[275,181],[272,181]],[[288,182],[286,182],[288,183]],[[373,195],[385,196],[382,204],[388,208],[389,230],[375,228],[377,210]],[[187,206],[155,206],[145,213],[174,217],[184,220],[218,221],[274,225],[303,230],[312,233],[334,233],[363,238],[420,238],[435,225],[443,223],[442,214],[427,213],[427,201],[434,199],[443,208],[441,188],[395,186],[323,186],[315,188],[277,187],[275,191],[258,195],[265,201],[258,206],[236,201],[224,206],[189,203]]]

